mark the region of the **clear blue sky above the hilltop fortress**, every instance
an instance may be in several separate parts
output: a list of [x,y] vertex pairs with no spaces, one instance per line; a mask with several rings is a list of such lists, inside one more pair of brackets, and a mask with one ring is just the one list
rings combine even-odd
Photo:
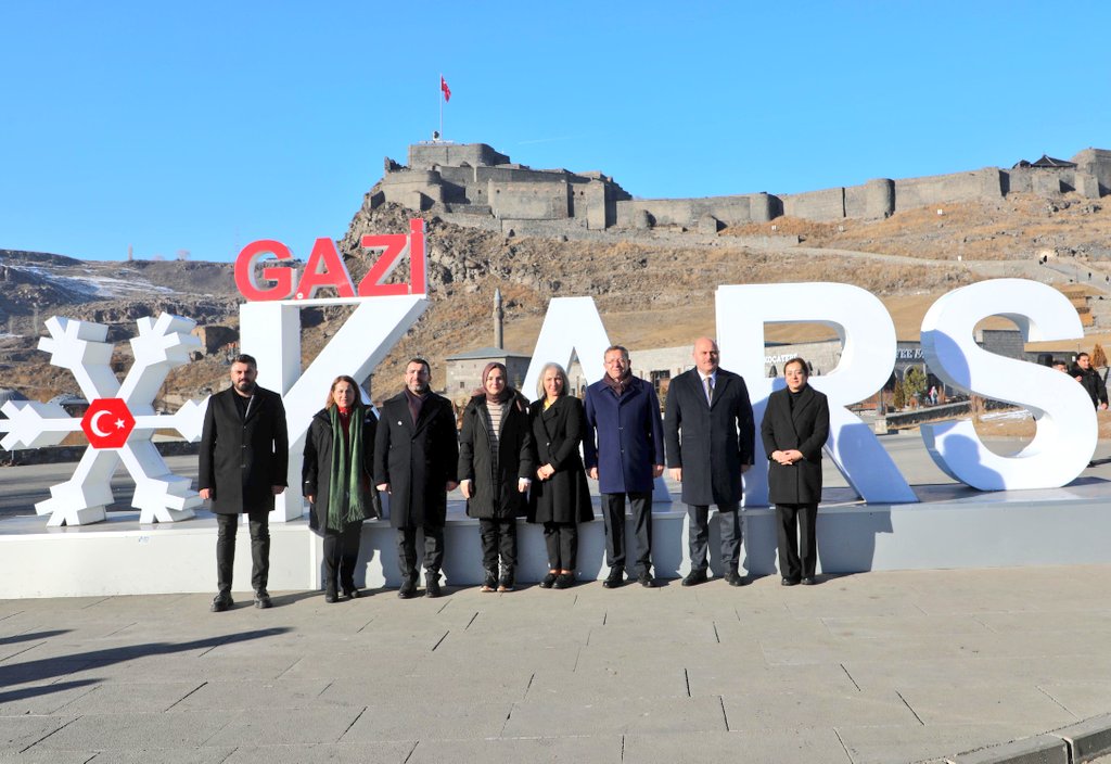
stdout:
[[1105,1],[9,0],[0,29],[0,249],[84,259],[307,255],[438,128],[441,72],[446,138],[644,198],[1111,149]]

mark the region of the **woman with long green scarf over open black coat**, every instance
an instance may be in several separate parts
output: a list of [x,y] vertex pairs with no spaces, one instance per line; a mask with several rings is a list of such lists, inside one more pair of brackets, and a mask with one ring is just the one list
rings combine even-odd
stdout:
[[[301,493],[310,504],[309,527],[324,539],[324,602],[360,595],[354,584],[362,521],[381,515],[373,485],[378,419],[363,406],[358,383],[337,376],[328,402],[309,424]],[[337,585],[338,584],[338,585]]]

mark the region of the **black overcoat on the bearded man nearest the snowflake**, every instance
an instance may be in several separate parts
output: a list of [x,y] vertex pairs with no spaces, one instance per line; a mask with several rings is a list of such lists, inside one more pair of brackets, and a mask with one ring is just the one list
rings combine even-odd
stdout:
[[218,514],[271,512],[272,486],[288,485],[289,433],[281,395],[262,388],[240,419],[233,389],[216,393],[204,410],[197,485],[212,492]]

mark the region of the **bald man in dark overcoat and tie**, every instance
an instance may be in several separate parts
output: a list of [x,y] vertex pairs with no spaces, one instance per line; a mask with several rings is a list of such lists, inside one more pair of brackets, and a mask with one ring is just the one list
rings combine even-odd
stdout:
[[718,506],[725,582],[744,583],[741,556],[741,474],[752,466],[755,428],[744,379],[725,371],[718,343],[694,342],[694,369],[671,380],[663,429],[671,478],[682,484],[691,570],[683,586],[707,580],[710,504]]

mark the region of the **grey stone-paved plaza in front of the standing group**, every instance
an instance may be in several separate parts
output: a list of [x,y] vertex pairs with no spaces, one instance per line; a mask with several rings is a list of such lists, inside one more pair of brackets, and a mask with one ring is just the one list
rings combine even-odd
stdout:
[[0,762],[1067,762],[1045,733],[1111,728],[1111,565],[661,584],[0,601]]

